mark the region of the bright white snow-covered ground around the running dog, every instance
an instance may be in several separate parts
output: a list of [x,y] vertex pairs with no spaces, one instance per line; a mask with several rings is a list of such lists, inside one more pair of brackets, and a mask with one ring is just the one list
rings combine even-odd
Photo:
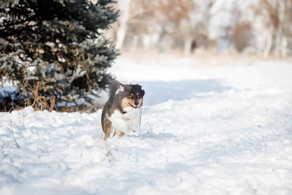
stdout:
[[0,113],[0,194],[291,195],[292,64],[197,63],[110,69],[146,91],[140,141],[106,143],[101,110]]

